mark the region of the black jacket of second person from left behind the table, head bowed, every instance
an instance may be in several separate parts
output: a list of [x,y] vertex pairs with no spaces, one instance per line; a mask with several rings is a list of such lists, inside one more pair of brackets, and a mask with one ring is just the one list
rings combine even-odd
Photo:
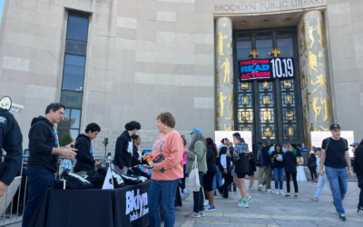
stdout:
[[96,163],[96,161],[93,159],[91,153],[90,137],[85,134],[78,135],[75,140],[74,148],[78,150],[76,151],[77,155],[75,155],[77,163],[74,165],[74,173],[94,171],[94,163]]

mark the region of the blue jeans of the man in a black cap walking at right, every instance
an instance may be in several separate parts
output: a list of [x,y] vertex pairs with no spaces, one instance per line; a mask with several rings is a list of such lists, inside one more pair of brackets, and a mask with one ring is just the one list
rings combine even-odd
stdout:
[[343,208],[343,200],[344,196],[348,191],[348,174],[347,170],[344,169],[335,169],[326,166],[325,172],[327,173],[330,189],[333,194],[333,200],[335,206],[337,207],[338,214],[345,214]]

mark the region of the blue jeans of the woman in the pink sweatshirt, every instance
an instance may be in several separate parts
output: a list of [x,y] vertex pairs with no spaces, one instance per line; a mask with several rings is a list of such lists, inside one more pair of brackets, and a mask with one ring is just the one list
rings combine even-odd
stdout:
[[160,202],[164,209],[164,226],[172,227],[175,222],[175,193],[181,180],[153,181],[149,191],[149,221],[150,227],[160,227]]

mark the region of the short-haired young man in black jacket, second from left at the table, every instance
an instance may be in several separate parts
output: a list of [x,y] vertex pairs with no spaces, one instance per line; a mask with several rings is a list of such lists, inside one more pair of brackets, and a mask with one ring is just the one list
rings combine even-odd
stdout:
[[94,167],[101,165],[93,158],[92,140],[97,138],[101,132],[101,127],[97,123],[89,123],[85,127],[84,134],[79,134],[75,140],[74,148],[77,149],[75,159],[77,163],[74,165],[74,173],[84,176],[89,171],[93,171]]

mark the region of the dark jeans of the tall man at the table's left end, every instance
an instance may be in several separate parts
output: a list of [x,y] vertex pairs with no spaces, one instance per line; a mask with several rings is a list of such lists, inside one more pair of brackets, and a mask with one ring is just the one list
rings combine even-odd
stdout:
[[43,168],[28,167],[26,173],[28,175],[29,182],[29,197],[25,204],[23,227],[26,227],[32,219],[33,213],[55,178],[54,173],[51,173]]

